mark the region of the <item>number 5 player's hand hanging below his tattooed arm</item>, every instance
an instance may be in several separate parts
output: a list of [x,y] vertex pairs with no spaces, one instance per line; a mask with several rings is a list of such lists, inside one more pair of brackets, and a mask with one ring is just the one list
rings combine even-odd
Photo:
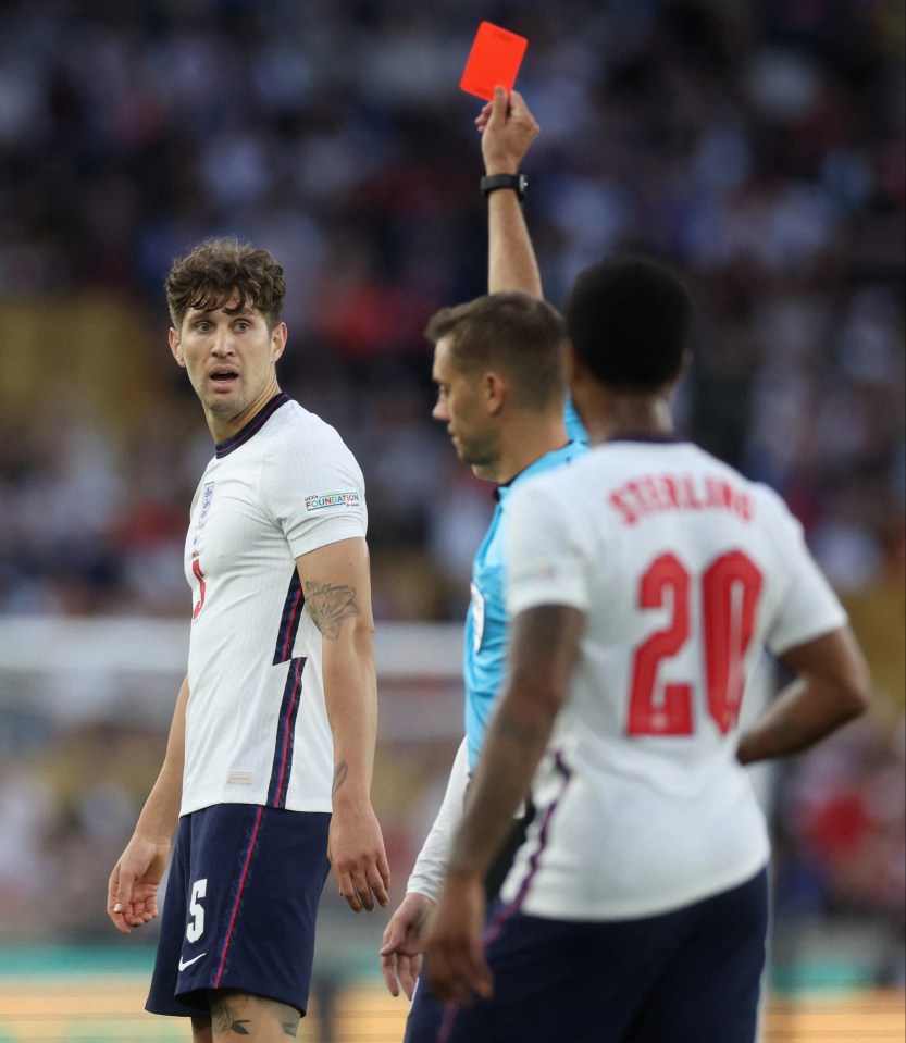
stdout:
[[370,804],[334,804],[327,837],[327,858],[339,893],[353,912],[386,906],[390,898],[390,867],[381,825]]

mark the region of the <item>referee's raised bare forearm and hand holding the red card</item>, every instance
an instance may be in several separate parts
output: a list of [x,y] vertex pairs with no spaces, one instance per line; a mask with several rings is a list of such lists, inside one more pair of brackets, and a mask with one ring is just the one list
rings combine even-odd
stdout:
[[[476,121],[482,133],[486,174],[514,174],[538,134],[538,125],[522,95],[507,95],[502,87]],[[542,297],[542,280],[535,251],[514,191],[494,191],[487,197],[487,289],[491,294],[521,290]]]

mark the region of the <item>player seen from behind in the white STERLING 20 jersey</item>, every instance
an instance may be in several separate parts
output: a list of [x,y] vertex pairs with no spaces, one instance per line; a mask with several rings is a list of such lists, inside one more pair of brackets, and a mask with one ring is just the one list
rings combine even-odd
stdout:
[[[768,833],[744,765],[864,711],[868,678],[798,523],[673,431],[691,301],[638,258],[566,308],[592,443],[508,505],[508,681],[429,929],[447,1043],[752,1043]],[[767,647],[794,680],[746,734]],[[536,812],[482,947],[482,880]]]

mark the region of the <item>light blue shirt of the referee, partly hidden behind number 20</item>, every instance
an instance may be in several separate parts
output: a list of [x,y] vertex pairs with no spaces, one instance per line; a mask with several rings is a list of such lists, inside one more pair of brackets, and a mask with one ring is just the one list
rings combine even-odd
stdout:
[[[569,423],[568,407],[567,419]],[[575,422],[579,418],[573,411]],[[575,437],[575,424],[569,425]],[[497,693],[504,685],[507,665],[507,613],[504,605],[504,538],[502,520],[510,489],[533,474],[574,460],[588,451],[584,429],[579,424],[583,440],[570,442],[562,449],[548,452],[507,485],[497,488],[497,507],[487,534],[472,563],[472,601],[466,619],[463,649],[463,679],[466,682],[466,736],[469,741],[469,770],[474,771],[484,742],[484,730]]]

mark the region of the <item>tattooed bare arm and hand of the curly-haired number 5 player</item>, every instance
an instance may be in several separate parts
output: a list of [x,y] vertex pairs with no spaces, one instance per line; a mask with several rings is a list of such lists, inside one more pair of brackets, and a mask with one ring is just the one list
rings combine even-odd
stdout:
[[342,539],[296,563],[306,608],[324,637],[324,697],[334,738],[327,855],[349,907],[371,911],[375,899],[382,906],[389,901],[390,874],[371,806],[377,681],[368,546],[362,538]]

